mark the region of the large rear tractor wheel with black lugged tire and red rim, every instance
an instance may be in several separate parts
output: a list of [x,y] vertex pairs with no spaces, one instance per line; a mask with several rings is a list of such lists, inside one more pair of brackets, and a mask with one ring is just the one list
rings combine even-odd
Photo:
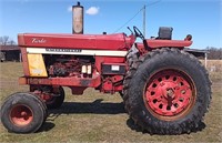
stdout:
[[211,82],[193,55],[161,49],[134,62],[124,84],[124,103],[133,121],[151,134],[195,131],[208,111]]

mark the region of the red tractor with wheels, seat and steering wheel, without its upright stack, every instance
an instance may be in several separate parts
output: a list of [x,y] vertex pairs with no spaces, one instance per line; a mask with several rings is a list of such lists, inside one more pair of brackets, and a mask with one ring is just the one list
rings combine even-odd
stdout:
[[[132,31],[131,31],[132,32]],[[137,43],[141,38],[143,43]],[[190,133],[200,126],[211,101],[211,82],[200,61],[184,51],[191,35],[172,40],[172,28],[144,39],[133,27],[130,35],[18,35],[27,93],[14,93],[1,106],[1,122],[14,133],[36,132],[47,109],[60,108],[62,86],[72,94],[87,88],[119,92],[130,118],[151,134]]]

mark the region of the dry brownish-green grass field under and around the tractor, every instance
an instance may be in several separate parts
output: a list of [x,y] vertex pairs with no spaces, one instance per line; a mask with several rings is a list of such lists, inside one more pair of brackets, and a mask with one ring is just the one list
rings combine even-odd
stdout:
[[[220,64],[222,61],[215,62]],[[209,62],[210,65],[210,62]],[[222,68],[222,67],[220,67]],[[21,63],[0,63],[0,103],[11,93],[28,91],[18,85]],[[83,95],[71,95],[65,89],[65,102],[50,115],[39,132],[8,133],[0,123],[0,142],[222,142],[222,78],[221,71],[210,72],[213,99],[202,131],[182,135],[150,135],[142,133],[124,112],[119,94],[101,94],[88,89]]]

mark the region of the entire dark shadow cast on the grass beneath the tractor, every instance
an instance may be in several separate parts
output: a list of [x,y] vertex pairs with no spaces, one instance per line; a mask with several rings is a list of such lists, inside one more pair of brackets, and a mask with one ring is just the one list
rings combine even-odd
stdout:
[[[125,113],[123,103],[102,103],[102,99],[95,100],[94,102],[64,102],[60,109],[49,110],[49,118],[47,122],[41,126],[38,132],[46,132],[53,129],[56,125],[52,123],[61,114],[122,114]],[[149,131],[143,131],[134,121],[129,118],[127,120],[127,125],[137,132],[142,132],[144,134],[151,135],[171,135],[171,134],[160,134]],[[192,132],[199,132],[205,129],[205,123],[200,122],[199,127],[191,130]],[[157,131],[157,130],[155,130]],[[180,134],[188,134],[186,132]]]

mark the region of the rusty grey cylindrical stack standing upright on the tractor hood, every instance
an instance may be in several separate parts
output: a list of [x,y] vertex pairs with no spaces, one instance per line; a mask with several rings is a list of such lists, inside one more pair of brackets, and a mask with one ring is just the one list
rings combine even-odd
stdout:
[[72,33],[83,33],[83,11],[84,8],[78,1],[77,6],[72,6]]

